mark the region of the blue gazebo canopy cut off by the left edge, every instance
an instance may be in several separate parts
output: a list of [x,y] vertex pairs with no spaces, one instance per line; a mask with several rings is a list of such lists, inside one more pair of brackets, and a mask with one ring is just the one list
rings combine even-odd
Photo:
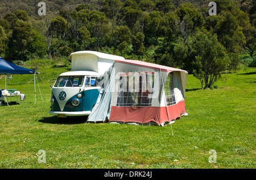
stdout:
[[0,74],[35,74],[35,70],[23,68],[7,62],[0,56]]

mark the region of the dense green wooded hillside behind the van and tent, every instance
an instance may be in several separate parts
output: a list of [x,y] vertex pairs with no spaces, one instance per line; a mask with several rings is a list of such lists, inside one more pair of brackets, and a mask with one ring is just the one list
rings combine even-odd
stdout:
[[214,45],[221,44],[229,57],[224,70],[236,72],[244,54],[253,60],[244,64],[255,64],[256,4],[252,0],[216,0],[217,15],[212,16],[208,15],[209,2],[197,0],[45,2],[46,16],[37,14],[36,1],[1,2],[0,54],[7,60],[46,56],[56,60],[68,47],[72,52],[113,53],[192,73],[198,69],[191,60],[205,55],[194,51],[199,47],[189,41],[207,30],[217,38]]

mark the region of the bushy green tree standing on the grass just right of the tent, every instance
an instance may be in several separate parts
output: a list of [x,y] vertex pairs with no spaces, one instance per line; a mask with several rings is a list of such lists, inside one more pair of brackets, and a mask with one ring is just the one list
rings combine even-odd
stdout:
[[207,31],[199,31],[188,41],[188,56],[193,74],[205,84],[204,89],[216,82],[221,72],[229,65],[225,48],[218,43],[217,36]]

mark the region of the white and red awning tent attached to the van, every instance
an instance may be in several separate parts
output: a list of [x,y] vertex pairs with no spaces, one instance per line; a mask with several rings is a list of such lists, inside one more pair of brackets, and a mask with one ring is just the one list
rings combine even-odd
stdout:
[[173,123],[185,110],[187,71],[136,60],[115,60],[88,122]]

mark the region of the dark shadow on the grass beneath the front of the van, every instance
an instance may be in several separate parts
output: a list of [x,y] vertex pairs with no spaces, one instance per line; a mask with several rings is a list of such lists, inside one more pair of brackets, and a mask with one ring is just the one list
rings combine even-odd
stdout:
[[68,117],[68,118],[57,118],[57,116],[51,116],[38,120],[40,123],[48,124],[83,124],[86,123],[88,116],[82,117]]

